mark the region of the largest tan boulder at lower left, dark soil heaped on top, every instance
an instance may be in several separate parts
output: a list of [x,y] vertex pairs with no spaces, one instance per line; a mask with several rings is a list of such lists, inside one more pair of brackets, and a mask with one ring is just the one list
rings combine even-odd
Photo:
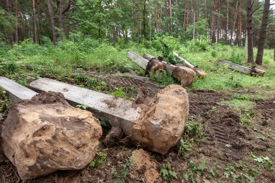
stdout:
[[2,148],[22,180],[79,170],[94,158],[100,122],[91,112],[70,106],[63,94],[49,91],[8,108]]

